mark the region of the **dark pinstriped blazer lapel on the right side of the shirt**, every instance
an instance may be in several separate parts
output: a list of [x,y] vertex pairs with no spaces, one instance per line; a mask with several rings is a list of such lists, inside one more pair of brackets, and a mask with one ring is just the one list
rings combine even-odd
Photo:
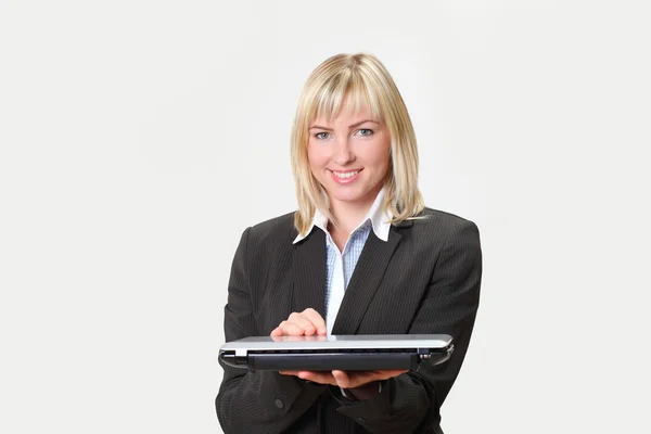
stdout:
[[384,270],[403,238],[393,229],[386,242],[375,237],[372,230],[369,233],[336,315],[332,334],[355,334],[359,329],[363,314],[382,282]]

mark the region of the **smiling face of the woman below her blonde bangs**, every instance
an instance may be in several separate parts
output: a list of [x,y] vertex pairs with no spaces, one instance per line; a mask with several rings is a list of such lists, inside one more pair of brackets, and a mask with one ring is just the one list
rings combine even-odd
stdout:
[[333,210],[367,210],[382,189],[390,166],[391,135],[368,107],[342,113],[330,123],[317,118],[309,128],[307,156]]

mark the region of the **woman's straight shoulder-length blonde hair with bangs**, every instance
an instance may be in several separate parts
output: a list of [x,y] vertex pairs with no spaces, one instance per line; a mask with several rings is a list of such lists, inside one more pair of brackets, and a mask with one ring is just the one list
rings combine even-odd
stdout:
[[366,53],[336,54],[308,77],[298,99],[292,128],[291,157],[298,209],[294,226],[306,234],[316,209],[333,221],[328,196],[312,176],[307,158],[308,129],[318,117],[335,118],[342,110],[357,112],[367,105],[391,135],[390,167],[384,180],[384,209],[398,224],[418,215],[423,199],[418,189],[418,149],[407,106],[384,65]]

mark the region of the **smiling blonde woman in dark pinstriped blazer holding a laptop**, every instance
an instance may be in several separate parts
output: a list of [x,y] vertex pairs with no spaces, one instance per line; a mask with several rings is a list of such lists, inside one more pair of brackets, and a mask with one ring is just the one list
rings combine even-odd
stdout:
[[222,365],[230,433],[442,433],[439,408],[478,305],[476,226],[424,207],[409,114],[385,67],[339,54],[308,78],[292,131],[298,210],[244,231],[226,341],[253,335],[446,333],[418,371],[248,372]]

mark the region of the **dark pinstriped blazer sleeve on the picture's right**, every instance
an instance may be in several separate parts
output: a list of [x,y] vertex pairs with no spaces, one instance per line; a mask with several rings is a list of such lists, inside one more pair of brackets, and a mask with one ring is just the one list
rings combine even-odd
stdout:
[[[435,263],[429,289],[413,318],[409,333],[445,333],[455,350],[439,366],[421,365],[386,381],[372,399],[337,399],[337,410],[371,433],[431,433],[438,430],[439,408],[468,350],[478,302],[482,251],[477,227],[461,220],[450,230]],[[336,391],[332,391],[337,395]],[[438,431],[436,431],[438,432]]]

